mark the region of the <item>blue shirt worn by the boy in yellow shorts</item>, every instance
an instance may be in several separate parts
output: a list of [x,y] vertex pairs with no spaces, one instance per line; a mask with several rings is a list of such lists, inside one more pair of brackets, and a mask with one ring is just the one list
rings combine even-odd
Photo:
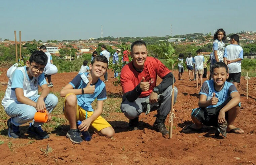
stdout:
[[[87,84],[84,83],[84,81],[81,78],[81,75],[85,74],[86,76],[89,73],[79,73],[77,74],[71,81],[70,85],[74,89],[82,89],[87,86]],[[76,95],[77,98],[77,104],[82,107],[84,110],[87,111],[94,111],[92,107],[93,101],[97,98],[97,100],[106,100],[107,99],[107,93],[106,93],[106,86],[103,83],[103,81],[99,78],[95,85],[95,91],[94,94],[81,94],[81,95]]]

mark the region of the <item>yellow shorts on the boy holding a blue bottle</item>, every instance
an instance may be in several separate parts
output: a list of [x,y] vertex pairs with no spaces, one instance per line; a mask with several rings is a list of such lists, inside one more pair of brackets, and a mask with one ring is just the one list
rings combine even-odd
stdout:
[[[66,98],[67,96],[72,95],[72,93],[69,93],[66,95],[65,100],[64,100],[64,115],[67,118],[67,114],[65,112],[65,103],[66,103]],[[74,95],[74,94],[73,94]],[[79,105],[76,105],[76,122],[78,120],[83,121],[86,119],[86,114],[87,114],[87,118],[92,116],[94,112],[91,111],[86,111],[84,110],[82,107],[80,107]],[[97,117],[91,124],[90,126],[94,127],[97,131],[100,131],[104,128],[107,127],[111,127],[111,125],[107,122],[107,120],[105,120],[103,117],[99,116]]]

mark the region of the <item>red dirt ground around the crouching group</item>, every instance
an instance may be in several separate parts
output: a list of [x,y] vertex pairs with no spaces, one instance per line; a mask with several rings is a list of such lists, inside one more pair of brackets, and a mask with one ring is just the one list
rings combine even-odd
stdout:
[[[1,81],[7,81],[6,70]],[[60,91],[75,75],[72,73],[58,73],[52,76],[54,87],[51,91]],[[109,81],[106,83],[108,93],[120,94],[121,87],[112,85],[113,72],[109,71]],[[178,72],[174,71],[176,79]],[[183,79],[177,80],[177,102],[174,105],[176,118],[174,119],[173,138],[165,139],[160,133],[152,130],[155,120],[152,112],[140,116],[140,125],[144,129],[129,131],[129,120],[122,113],[111,112],[107,120],[115,129],[113,139],[106,139],[98,134],[92,135],[92,141],[73,145],[65,134],[69,129],[68,123],[62,129],[51,132],[47,140],[10,139],[6,134],[0,135],[5,141],[0,145],[0,164],[256,164],[256,78],[249,80],[249,99],[246,98],[246,80],[241,77],[238,91],[241,95],[242,108],[235,120],[235,125],[242,128],[244,134],[228,133],[227,138],[215,137],[215,130],[202,133],[181,133],[184,125],[191,122],[191,109],[197,107],[199,89],[195,83],[188,81],[188,73]],[[158,83],[160,79],[158,78]],[[6,86],[0,86],[5,90]],[[113,116],[111,118],[111,116]],[[61,115],[64,117],[64,115]],[[168,121],[166,121],[168,125]],[[6,132],[6,130],[5,130]],[[7,144],[15,144],[8,148]],[[45,149],[47,144],[53,152],[43,155],[40,148]]]

